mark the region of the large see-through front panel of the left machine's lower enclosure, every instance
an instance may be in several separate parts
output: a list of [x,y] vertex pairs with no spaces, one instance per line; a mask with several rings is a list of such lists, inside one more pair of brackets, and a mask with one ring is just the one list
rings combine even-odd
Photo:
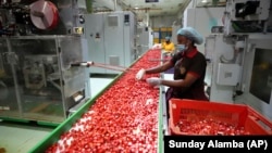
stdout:
[[[55,37],[11,38],[23,118],[60,122],[65,118]],[[52,106],[54,105],[54,106]],[[58,110],[53,110],[58,107]]]

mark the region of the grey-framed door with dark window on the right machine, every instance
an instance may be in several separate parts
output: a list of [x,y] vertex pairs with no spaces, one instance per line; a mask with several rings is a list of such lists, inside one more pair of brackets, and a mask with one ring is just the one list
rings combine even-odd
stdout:
[[245,47],[240,89],[235,102],[246,103],[272,118],[272,35],[249,35]]

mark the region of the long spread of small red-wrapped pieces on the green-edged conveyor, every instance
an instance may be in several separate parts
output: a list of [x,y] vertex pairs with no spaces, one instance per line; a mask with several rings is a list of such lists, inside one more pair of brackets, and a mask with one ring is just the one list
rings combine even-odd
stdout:
[[159,65],[152,59],[160,56],[160,50],[147,51],[46,152],[157,152],[159,89],[145,79],[136,80],[135,75],[140,68]]

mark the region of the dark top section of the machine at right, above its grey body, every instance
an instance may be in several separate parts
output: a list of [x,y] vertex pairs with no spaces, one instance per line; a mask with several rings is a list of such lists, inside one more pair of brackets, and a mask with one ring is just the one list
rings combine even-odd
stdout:
[[223,16],[224,34],[272,31],[271,0],[228,0]]

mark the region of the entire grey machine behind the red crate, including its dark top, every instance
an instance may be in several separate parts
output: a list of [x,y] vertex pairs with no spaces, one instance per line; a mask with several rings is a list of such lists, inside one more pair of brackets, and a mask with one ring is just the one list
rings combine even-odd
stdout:
[[270,0],[230,0],[223,26],[211,28],[210,101],[249,104],[272,118],[272,17]]

